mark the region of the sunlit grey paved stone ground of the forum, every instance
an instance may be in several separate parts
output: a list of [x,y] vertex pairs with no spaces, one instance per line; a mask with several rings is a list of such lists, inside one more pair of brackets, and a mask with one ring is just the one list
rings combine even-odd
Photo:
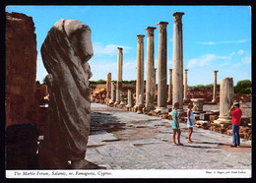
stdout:
[[106,169],[251,169],[251,141],[229,148],[231,136],[194,128],[193,144],[181,123],[173,146],[171,120],[92,103],[86,159]]

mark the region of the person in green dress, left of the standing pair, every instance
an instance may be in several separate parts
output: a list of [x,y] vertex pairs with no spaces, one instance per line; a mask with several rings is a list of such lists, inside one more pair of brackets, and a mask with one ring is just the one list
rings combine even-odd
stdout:
[[[183,146],[179,140],[181,132],[179,129],[179,116],[178,116],[178,111],[177,111],[178,108],[179,108],[179,103],[175,102],[173,105],[173,110],[172,110],[172,130],[173,130],[172,140],[173,140],[174,146],[176,146],[176,145]],[[178,135],[177,135],[178,144],[176,144],[176,141],[175,141],[176,133],[178,133]]]

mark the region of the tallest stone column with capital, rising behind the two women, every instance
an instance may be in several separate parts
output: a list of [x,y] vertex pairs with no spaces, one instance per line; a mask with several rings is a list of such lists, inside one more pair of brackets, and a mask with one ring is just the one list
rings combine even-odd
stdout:
[[173,24],[173,91],[172,106],[179,103],[179,113],[183,113],[183,42],[181,18],[184,13],[176,12],[172,14]]

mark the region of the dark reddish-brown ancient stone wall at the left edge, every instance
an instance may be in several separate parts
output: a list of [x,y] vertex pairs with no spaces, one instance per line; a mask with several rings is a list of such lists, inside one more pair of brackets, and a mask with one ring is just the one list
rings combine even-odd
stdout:
[[6,127],[31,123],[36,40],[32,17],[6,13]]

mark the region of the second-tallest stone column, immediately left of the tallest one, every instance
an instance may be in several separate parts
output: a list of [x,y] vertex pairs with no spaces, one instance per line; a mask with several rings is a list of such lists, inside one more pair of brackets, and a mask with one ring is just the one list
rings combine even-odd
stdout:
[[160,29],[159,33],[159,64],[158,64],[158,107],[156,111],[161,113],[168,113],[166,107],[166,76],[167,76],[167,34],[166,34],[166,22],[160,22],[157,24]]

